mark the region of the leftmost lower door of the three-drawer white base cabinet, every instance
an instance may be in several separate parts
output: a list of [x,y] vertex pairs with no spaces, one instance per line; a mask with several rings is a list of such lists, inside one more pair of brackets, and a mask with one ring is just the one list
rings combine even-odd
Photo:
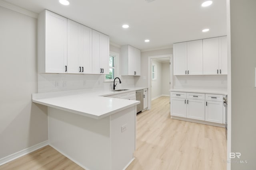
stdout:
[[186,117],[187,104],[185,104],[186,99],[182,98],[171,98],[171,115],[178,117]]

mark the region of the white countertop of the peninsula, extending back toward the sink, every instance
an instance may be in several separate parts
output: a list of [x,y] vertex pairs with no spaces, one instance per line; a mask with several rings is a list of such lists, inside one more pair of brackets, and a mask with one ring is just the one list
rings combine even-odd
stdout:
[[129,90],[121,92],[102,89],[82,89],[62,92],[36,93],[32,94],[32,102],[94,119],[101,119],[140,103],[140,101],[136,100],[108,98],[103,96],[132,92],[145,88],[147,87],[128,88]]

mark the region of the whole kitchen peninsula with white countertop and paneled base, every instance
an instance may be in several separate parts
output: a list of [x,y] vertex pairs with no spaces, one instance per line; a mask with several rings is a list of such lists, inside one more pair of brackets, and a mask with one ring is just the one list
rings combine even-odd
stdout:
[[104,97],[120,93],[70,90],[32,94],[32,101],[48,106],[50,146],[86,170],[122,170],[134,160],[140,102]]

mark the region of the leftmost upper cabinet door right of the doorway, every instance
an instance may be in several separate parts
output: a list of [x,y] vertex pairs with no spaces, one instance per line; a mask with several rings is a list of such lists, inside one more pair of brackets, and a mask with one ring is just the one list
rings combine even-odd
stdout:
[[187,42],[173,44],[173,75],[186,75]]

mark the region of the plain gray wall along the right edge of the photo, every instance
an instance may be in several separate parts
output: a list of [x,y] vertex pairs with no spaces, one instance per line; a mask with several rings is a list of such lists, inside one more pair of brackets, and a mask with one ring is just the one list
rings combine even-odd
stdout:
[[256,1],[230,0],[231,27],[231,152],[248,163],[232,170],[256,169]]

